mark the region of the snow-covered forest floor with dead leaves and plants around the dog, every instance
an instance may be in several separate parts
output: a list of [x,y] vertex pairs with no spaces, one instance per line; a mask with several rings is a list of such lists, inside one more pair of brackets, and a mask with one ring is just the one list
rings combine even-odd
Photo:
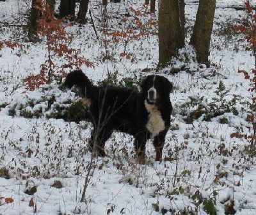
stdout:
[[[75,35],[70,46],[95,65],[83,66],[83,71],[95,84],[109,73],[116,72],[119,81],[154,73],[157,27],[147,26],[147,36],[118,38],[115,43],[102,31],[100,2],[92,0],[89,5],[99,39],[90,23],[67,27]],[[132,28],[135,16],[141,22],[156,21],[157,14],[132,12],[130,7],[147,11],[143,2],[109,3],[108,30],[121,31],[129,24]],[[198,1],[186,3],[189,41]],[[173,60],[173,67],[184,71],[158,72],[175,86],[170,95],[172,129],[166,136],[163,161],[154,161],[154,147],[148,141],[145,165],[134,159],[132,136],[116,132],[106,143],[108,156],[92,159],[86,148],[89,122],[47,117],[54,111],[48,107],[53,95],[58,105],[77,100],[74,92],[62,91],[54,83],[26,90],[22,79],[38,74],[47,54],[44,42],[26,42],[22,31],[30,5],[26,0],[0,2],[0,41],[12,39],[24,45],[0,50],[0,214],[211,214],[212,209],[216,214],[256,214],[255,146],[251,150],[246,139],[230,138],[236,131],[252,134],[246,120],[250,83],[237,71],[255,68],[254,57],[243,35],[232,30],[245,17],[243,10],[236,10],[243,1],[217,0],[210,68],[198,65],[186,46],[180,51],[182,57]],[[123,22],[126,12],[131,16]],[[104,45],[103,39],[111,43]],[[131,58],[122,57],[124,52]],[[106,58],[109,53],[111,60]],[[62,62],[55,60],[60,66]],[[141,72],[145,69],[149,72]],[[207,113],[188,123],[187,116],[199,106]],[[24,117],[41,109],[38,118]],[[205,120],[218,109],[229,111]]]

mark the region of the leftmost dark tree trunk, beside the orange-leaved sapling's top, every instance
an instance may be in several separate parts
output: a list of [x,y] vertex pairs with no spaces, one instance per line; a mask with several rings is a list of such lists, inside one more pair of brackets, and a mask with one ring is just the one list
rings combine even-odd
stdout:
[[40,16],[40,10],[38,10],[39,3],[36,0],[33,0],[31,3],[31,11],[30,17],[28,20],[28,38],[31,42],[36,42],[37,38],[37,21],[38,17]]

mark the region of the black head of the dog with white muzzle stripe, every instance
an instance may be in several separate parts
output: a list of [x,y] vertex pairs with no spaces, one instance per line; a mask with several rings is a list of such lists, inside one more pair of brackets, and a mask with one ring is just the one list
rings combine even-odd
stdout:
[[141,83],[143,96],[148,104],[156,104],[157,101],[169,97],[173,84],[163,76],[147,76]]

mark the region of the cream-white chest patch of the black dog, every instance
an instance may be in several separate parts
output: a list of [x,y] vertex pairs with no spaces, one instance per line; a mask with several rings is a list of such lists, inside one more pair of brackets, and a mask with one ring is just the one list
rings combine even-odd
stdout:
[[159,132],[164,130],[164,120],[155,104],[148,104],[147,100],[145,100],[145,107],[149,113],[146,128],[151,133],[151,138],[154,138]]

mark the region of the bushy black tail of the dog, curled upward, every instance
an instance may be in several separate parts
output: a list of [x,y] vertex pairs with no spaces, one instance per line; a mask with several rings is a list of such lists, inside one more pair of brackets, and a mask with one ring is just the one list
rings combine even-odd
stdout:
[[74,70],[74,71],[70,72],[67,75],[64,84],[68,88],[72,88],[72,86],[74,86],[74,85],[78,86],[83,93],[83,97],[86,97],[88,99],[90,99],[90,97],[92,95],[93,84],[88,79],[88,77],[82,72],[82,70]]

